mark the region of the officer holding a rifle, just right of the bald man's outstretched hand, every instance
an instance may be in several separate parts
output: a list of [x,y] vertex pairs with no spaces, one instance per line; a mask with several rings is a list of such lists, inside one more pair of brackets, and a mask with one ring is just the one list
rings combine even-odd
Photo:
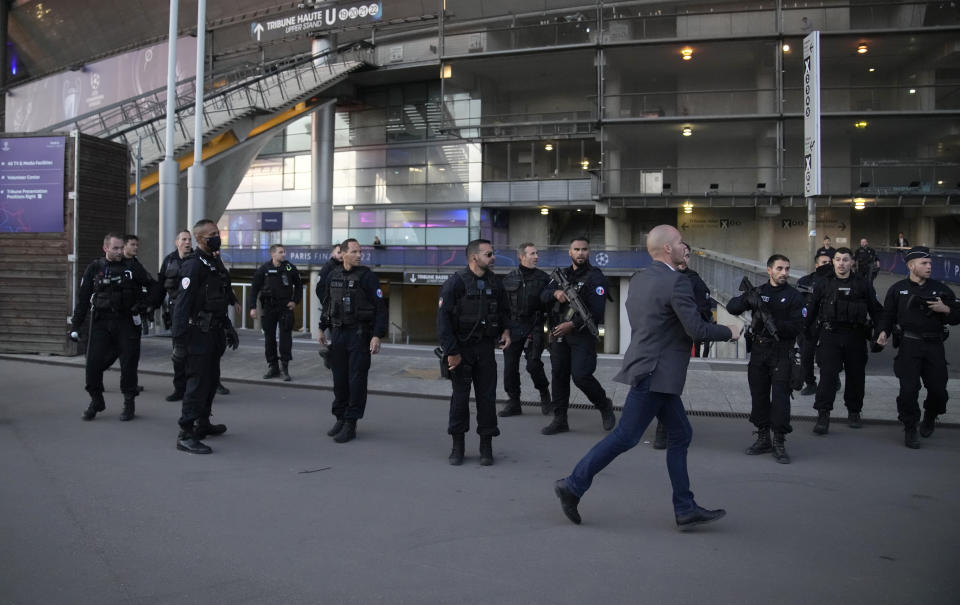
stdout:
[[[750,456],[773,452],[774,459],[789,464],[784,444],[790,427],[790,374],[793,346],[803,330],[803,296],[787,283],[790,259],[774,254],[767,259],[767,281],[750,292],[735,296],[727,311],[740,315],[752,311],[750,328],[750,422],[757,427],[757,440],[746,449]],[[761,311],[768,315],[764,322]],[[772,393],[772,396],[771,396]],[[773,443],[770,429],[773,428]]]

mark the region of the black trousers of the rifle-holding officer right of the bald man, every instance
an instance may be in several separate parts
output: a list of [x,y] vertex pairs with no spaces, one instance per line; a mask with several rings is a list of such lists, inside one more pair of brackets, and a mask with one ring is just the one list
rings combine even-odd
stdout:
[[790,370],[792,348],[753,345],[747,365],[750,383],[750,422],[761,430],[773,427],[775,433],[789,433]]

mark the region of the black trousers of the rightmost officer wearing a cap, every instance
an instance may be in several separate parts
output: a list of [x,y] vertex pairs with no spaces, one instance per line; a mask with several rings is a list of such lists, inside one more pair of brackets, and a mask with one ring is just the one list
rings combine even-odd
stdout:
[[897,396],[897,415],[905,425],[920,421],[920,381],[927,388],[923,409],[931,414],[947,411],[947,360],[943,341],[918,340],[904,337],[893,362],[893,373],[900,379]]

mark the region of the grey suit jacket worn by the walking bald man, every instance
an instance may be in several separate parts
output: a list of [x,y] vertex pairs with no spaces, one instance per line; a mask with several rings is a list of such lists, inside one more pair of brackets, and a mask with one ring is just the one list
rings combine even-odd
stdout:
[[687,380],[693,341],[729,340],[730,328],[708,323],[697,312],[690,279],[660,261],[637,271],[627,295],[630,346],[614,380],[679,395]]

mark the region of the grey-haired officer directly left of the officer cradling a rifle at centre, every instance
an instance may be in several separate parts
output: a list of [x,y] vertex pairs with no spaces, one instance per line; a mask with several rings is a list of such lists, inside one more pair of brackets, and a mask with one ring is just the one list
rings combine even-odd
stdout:
[[545,305],[540,293],[550,276],[537,269],[540,253],[532,243],[517,248],[520,266],[503,278],[510,305],[510,346],[503,350],[503,390],[510,400],[500,416],[523,413],[520,407],[520,355],[527,357],[527,373],[540,391],[540,411],[550,413],[550,382],[543,371]]

